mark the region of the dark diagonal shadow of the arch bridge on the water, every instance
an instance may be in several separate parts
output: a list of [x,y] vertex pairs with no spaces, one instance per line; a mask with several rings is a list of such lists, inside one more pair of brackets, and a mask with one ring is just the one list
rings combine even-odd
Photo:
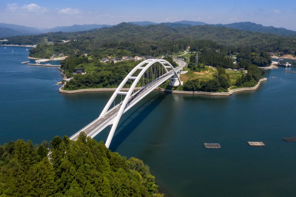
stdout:
[[142,121],[158,106],[160,101],[167,97],[167,95],[167,93],[164,94],[160,92],[143,103],[137,109],[133,110],[128,117],[123,119],[124,121],[117,126],[117,134],[113,136],[109,149],[115,151],[120,144],[139,126],[139,124],[141,124]]

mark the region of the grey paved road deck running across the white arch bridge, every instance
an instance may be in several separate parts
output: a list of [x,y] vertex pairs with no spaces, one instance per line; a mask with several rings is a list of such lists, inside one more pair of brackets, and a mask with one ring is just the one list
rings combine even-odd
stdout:
[[[179,64],[179,67],[176,67],[175,70],[179,70],[181,67],[186,66],[186,63],[183,62],[182,60],[179,59],[175,59],[175,61]],[[141,96],[143,94],[145,94],[147,91],[151,90],[151,89],[155,89],[159,84],[159,81],[161,81],[163,78],[167,77],[168,75],[171,75],[173,73],[173,70],[171,70],[169,73],[163,75],[161,78],[157,79],[156,81],[152,82],[149,84],[149,89],[143,88],[139,91],[137,91],[134,95],[131,95],[131,97],[129,98],[128,103],[126,104],[125,108],[129,107],[129,105],[134,102],[137,103],[137,101],[139,99],[141,99]],[[152,90],[151,90],[152,91]],[[82,129],[82,131],[84,131],[84,133],[87,136],[92,135],[92,132],[94,130],[98,131],[102,128],[107,127],[108,125],[110,125],[110,121],[112,121],[116,115],[117,112],[119,111],[119,109],[122,107],[122,105],[117,104],[116,105],[117,109],[115,107],[113,107],[112,109],[110,109],[109,111],[107,111],[107,113],[105,114],[105,116],[103,117],[98,117],[97,119],[95,119],[94,121],[92,121],[91,123],[89,123],[86,127],[84,127]],[[70,137],[71,140],[76,140],[79,136],[79,131],[76,132],[74,135],[72,135]]]

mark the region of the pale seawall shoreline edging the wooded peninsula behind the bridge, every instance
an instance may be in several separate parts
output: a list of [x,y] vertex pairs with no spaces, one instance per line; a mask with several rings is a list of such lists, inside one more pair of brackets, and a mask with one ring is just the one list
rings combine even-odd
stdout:
[[[59,70],[61,70],[61,69],[59,69]],[[170,93],[175,93],[175,94],[201,94],[201,95],[210,95],[210,96],[230,96],[231,94],[233,94],[235,92],[256,90],[260,86],[262,81],[267,81],[267,78],[260,79],[259,82],[257,83],[257,85],[254,87],[243,87],[243,88],[230,90],[229,92],[180,91],[180,90],[167,90],[167,89],[162,89],[160,87],[156,87],[154,90],[158,90],[158,91],[162,91],[162,92],[170,92]],[[59,88],[59,92],[64,93],[64,94],[75,94],[75,93],[80,93],[80,92],[115,91],[117,89],[117,88],[90,88],[90,89],[80,89],[80,90],[62,90],[64,85]],[[138,87],[138,88],[141,88],[141,87]],[[126,90],[128,90],[128,89],[126,89]]]

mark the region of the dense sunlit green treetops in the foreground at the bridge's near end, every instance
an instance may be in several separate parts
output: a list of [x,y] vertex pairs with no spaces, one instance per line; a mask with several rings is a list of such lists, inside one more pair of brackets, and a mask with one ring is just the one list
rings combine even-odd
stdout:
[[157,188],[141,160],[126,160],[84,133],[77,141],[0,146],[0,196],[163,196]]

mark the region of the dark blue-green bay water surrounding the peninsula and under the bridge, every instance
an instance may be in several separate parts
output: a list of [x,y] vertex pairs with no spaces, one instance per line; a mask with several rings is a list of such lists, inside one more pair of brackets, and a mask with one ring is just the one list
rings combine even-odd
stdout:
[[[61,79],[57,68],[21,65],[25,48],[7,49],[0,47],[0,144],[72,135],[112,94],[60,94],[52,86]],[[122,116],[110,149],[142,159],[167,196],[295,196],[296,143],[282,138],[296,136],[296,74],[284,70],[229,97],[154,91]],[[105,141],[108,129],[95,139]]]

